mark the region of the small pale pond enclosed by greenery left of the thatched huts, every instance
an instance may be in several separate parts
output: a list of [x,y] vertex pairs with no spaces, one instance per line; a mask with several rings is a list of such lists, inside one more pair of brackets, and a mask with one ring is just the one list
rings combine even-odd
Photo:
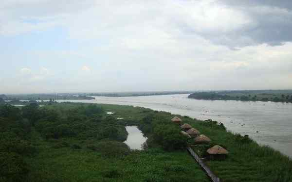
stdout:
[[124,142],[130,149],[142,150],[142,144],[147,140],[137,126],[127,126],[128,138]]

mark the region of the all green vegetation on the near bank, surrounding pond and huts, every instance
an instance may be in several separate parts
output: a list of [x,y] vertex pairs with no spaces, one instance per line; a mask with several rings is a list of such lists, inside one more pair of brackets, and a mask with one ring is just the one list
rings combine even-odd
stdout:
[[[208,182],[184,149],[193,139],[180,134],[173,116],[107,104],[2,104],[0,182]],[[201,156],[215,144],[229,151],[225,160],[206,162],[222,182],[292,181],[292,161],[280,152],[227,132],[217,121],[179,117],[212,140],[194,147]],[[145,150],[122,143],[126,123],[139,124],[148,138]]]

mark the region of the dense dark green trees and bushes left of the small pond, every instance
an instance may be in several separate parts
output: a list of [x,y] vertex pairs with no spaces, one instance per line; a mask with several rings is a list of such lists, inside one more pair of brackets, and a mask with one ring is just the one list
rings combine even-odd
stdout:
[[[37,103],[30,103],[22,109],[8,104],[0,105],[0,181],[23,181],[29,172],[24,158],[36,152],[31,145],[32,130],[46,140],[77,137],[124,141],[127,131],[123,123],[104,113],[96,105],[81,105],[67,110],[42,108]],[[57,143],[55,148],[66,146],[66,143]],[[78,149],[77,145],[72,147]]]

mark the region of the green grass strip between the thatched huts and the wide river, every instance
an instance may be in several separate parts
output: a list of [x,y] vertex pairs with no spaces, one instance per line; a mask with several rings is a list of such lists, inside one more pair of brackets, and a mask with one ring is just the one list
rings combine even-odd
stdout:
[[[137,120],[149,113],[165,117],[169,121],[173,116],[179,116],[132,106],[104,105],[104,108],[125,118],[137,116]],[[124,111],[119,111],[120,108]],[[243,137],[222,130],[221,127],[210,126],[204,121],[188,116],[179,117],[183,123],[188,123],[207,135],[212,140],[210,145],[218,144],[229,151],[225,160],[206,162],[222,182],[292,182],[292,160],[279,151],[260,146],[253,140],[242,142]]]

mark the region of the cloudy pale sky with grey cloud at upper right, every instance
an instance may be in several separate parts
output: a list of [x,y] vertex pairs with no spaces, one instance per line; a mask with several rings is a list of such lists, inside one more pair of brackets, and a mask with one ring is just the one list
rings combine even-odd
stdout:
[[1,0],[0,85],[292,89],[292,0]]

